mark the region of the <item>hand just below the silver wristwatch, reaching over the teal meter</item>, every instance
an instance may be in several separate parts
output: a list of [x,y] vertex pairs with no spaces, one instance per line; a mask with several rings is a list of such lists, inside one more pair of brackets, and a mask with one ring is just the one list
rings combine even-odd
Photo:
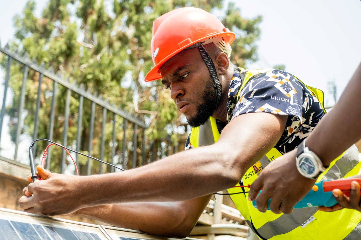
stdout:
[[[316,180],[302,176],[296,168],[296,150],[282,155],[266,168],[252,183],[248,200],[256,199],[257,209],[266,212],[269,208],[273,213],[291,213],[293,206],[311,189]],[[257,196],[259,191],[260,195]]]

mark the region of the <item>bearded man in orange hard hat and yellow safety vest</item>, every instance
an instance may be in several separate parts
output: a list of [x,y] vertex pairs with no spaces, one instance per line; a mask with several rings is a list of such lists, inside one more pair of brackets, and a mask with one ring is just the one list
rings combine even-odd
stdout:
[[[184,237],[212,193],[228,189],[261,239],[344,239],[356,231],[359,221],[349,222],[360,216],[356,211],[338,211],[341,215],[335,216],[342,224],[337,222],[341,228],[336,234],[329,230],[336,230],[329,213],[314,208],[260,213],[247,200],[240,185],[252,184],[262,172],[255,173],[256,168],[262,170],[299,145],[324,109],[322,92],[290,73],[235,67],[229,59],[234,39],[233,32],[201,9],[176,9],[156,19],[151,43],[155,67],[145,81],[162,78],[170,89],[193,126],[188,150],[144,167],[97,176],[49,175],[38,168],[46,180],[23,191],[34,195],[23,196],[21,207],[46,215],[74,212],[151,234]],[[340,159],[350,161],[358,160]],[[349,169],[340,171],[343,176]],[[305,188],[314,181],[309,179]],[[118,184],[109,184],[114,182]]]

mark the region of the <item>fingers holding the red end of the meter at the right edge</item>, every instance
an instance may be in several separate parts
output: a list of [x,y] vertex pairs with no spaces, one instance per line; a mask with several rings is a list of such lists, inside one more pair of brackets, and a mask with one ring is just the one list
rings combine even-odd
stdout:
[[[361,178],[361,175],[354,177]],[[345,196],[340,189],[334,189],[332,193],[334,194],[334,197],[337,200],[338,204],[332,207],[318,207],[318,210],[325,212],[334,212],[343,208],[349,208],[361,212],[360,184],[358,184],[358,182],[351,182],[349,197]]]

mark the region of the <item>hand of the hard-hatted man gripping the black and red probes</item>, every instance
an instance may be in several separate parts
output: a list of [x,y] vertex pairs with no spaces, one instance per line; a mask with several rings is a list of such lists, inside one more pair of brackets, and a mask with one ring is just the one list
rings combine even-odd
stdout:
[[81,201],[72,198],[73,193],[78,190],[75,181],[72,181],[76,176],[50,173],[40,165],[37,170],[43,180],[36,180],[25,187],[19,200],[20,207],[25,212],[53,216],[81,208]]

